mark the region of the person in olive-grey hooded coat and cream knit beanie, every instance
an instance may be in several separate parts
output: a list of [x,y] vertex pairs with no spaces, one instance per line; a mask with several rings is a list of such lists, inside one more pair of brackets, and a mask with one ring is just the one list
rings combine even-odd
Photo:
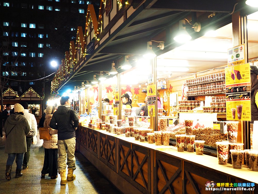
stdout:
[[14,105],[14,114],[11,114],[4,125],[6,134],[6,142],[4,153],[8,154],[6,161],[5,178],[11,180],[11,171],[15,155],[17,155],[15,177],[21,177],[21,168],[23,154],[27,151],[26,135],[30,132],[30,125],[27,119],[23,116],[24,108],[16,103]]

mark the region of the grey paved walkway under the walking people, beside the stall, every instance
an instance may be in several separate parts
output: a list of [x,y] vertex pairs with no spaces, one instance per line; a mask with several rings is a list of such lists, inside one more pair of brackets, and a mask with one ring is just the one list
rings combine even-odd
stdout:
[[16,163],[14,162],[12,179],[7,181],[5,180],[5,167],[8,154],[4,153],[5,138],[0,139],[0,193],[121,193],[80,153],[75,153],[76,170],[74,174],[76,179],[74,181],[67,181],[66,185],[61,186],[60,175],[54,180],[48,176],[41,179],[44,162],[42,144],[43,140],[38,139],[36,146],[31,145],[29,168],[22,170],[23,176],[15,178]]

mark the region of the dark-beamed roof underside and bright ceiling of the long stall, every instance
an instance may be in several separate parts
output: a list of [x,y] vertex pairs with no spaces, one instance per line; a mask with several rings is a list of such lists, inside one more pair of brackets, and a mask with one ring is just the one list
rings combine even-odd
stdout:
[[[227,3],[223,0],[216,2],[213,0],[199,0],[198,3],[191,0],[133,1],[132,6],[135,11],[131,16],[111,33],[106,40],[101,42],[98,48],[95,49],[95,53],[87,57],[83,65],[68,78],[59,90],[72,89],[73,86],[81,85],[82,81],[92,80],[96,71],[109,71],[112,61],[116,61],[124,55],[142,55],[146,50],[147,41],[150,40],[165,42],[164,50],[152,47],[158,55],[158,73],[161,77],[165,78],[170,72],[168,66],[183,66],[179,61],[174,60],[187,61],[189,72],[225,65],[225,49],[232,47],[232,35],[228,34],[232,34],[232,27],[229,29],[232,15],[229,13],[233,11],[237,2],[235,0],[227,1]],[[246,14],[257,11],[257,9],[247,6],[244,1],[236,4],[235,11],[239,10],[244,10]],[[207,16],[212,12],[216,12],[216,15],[208,19]],[[192,39],[196,39],[188,43],[189,45],[192,44],[192,47],[187,46],[187,44],[181,46],[173,40],[173,34],[178,30],[179,20],[189,17],[193,18],[193,20],[194,18],[202,20],[200,32],[188,31]],[[174,26],[176,27],[174,28]],[[221,28],[222,26],[224,27]],[[205,36],[199,38],[210,28],[218,29],[219,35],[216,38]],[[227,31],[227,33],[224,31]],[[258,38],[256,37],[254,36],[254,39],[252,39],[254,46],[257,45]],[[216,45],[221,43],[224,46],[215,48],[213,46],[215,43]],[[168,63],[164,63],[164,60]],[[119,66],[118,64],[116,65],[117,67]],[[182,74],[186,74],[186,72],[173,73],[173,76]]]

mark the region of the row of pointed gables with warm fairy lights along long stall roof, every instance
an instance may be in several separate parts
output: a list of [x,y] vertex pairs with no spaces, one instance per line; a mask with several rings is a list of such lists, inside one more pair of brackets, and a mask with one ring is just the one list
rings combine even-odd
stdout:
[[[131,2],[131,1],[130,1]],[[128,5],[128,1],[117,0],[120,7]],[[100,41],[99,35],[102,32],[103,24],[103,10],[105,7],[105,0],[101,0],[98,18],[96,17],[93,5],[89,4],[86,14],[85,32],[83,34],[82,27],[77,28],[76,42],[70,41],[69,51],[65,53],[65,59],[62,60],[62,64],[59,65],[54,79],[51,82],[51,96],[52,98],[58,97],[57,89],[61,86],[69,73],[73,71],[74,66],[77,66],[81,57],[86,57],[86,45],[90,40],[87,38],[90,36],[92,30],[94,30],[95,41]],[[92,29],[93,28],[93,29]],[[95,42],[96,43],[96,42]]]

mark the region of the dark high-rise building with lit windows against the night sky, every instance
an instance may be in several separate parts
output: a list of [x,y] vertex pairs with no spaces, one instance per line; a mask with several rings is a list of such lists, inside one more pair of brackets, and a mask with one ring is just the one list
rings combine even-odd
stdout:
[[76,39],[77,26],[85,27],[87,3],[1,0],[1,79],[8,78],[2,84],[18,94],[33,87],[43,95],[43,80],[38,79],[55,71],[50,62],[56,60],[59,65],[69,40]]

